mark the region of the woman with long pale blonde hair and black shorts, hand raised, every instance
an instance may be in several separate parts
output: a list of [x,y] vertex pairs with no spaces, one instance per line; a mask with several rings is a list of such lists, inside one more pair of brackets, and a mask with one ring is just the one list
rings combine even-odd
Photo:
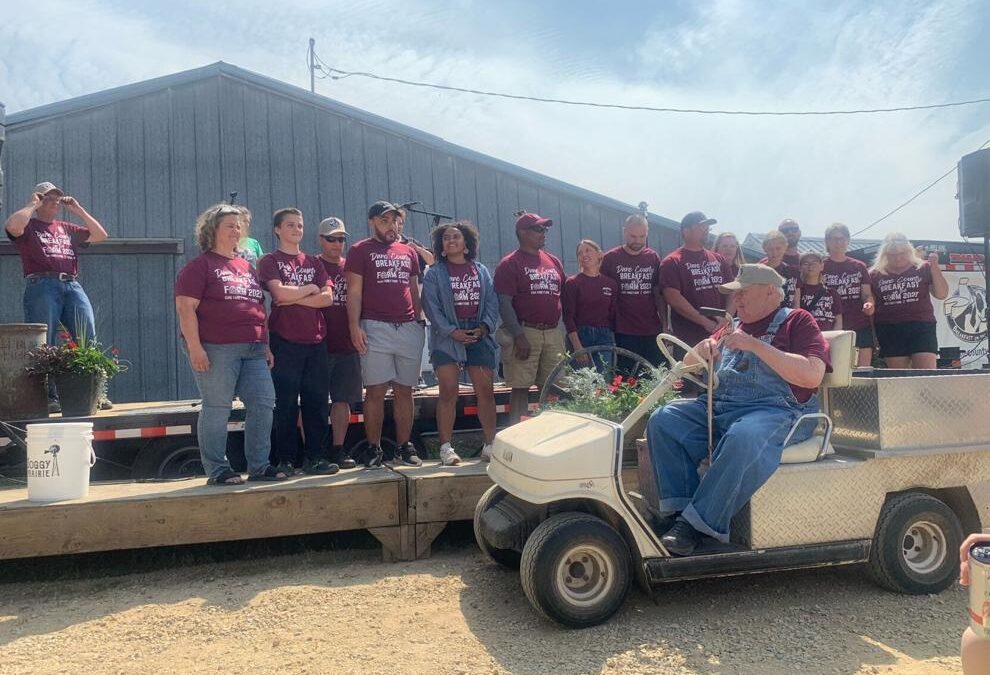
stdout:
[[938,355],[935,309],[930,295],[949,296],[938,254],[922,260],[903,234],[888,234],[870,267],[876,298],[873,322],[880,356],[888,368],[934,369]]

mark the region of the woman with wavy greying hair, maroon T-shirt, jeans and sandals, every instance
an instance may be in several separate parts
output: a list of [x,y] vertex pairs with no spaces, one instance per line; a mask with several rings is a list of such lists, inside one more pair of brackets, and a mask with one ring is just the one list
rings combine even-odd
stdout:
[[234,396],[244,403],[248,480],[284,480],[269,462],[275,387],[269,372],[265,294],[250,263],[237,255],[241,211],[217,204],[196,221],[203,253],[179,271],[175,309],[196,386],[203,397],[196,422],[210,485],[240,485],[227,459],[227,420]]

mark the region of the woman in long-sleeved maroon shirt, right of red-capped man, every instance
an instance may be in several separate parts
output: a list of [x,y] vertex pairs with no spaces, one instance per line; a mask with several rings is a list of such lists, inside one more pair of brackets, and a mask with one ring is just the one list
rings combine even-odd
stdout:
[[[615,303],[619,295],[619,285],[601,273],[602,248],[590,239],[583,239],[577,247],[578,266],[581,271],[564,281],[560,304],[564,316],[564,328],[571,348],[575,351],[585,347],[614,345]],[[595,356],[595,367],[601,371],[606,357],[611,354],[599,352]],[[611,361],[611,358],[607,358]],[[587,356],[579,359],[581,365],[589,365]]]

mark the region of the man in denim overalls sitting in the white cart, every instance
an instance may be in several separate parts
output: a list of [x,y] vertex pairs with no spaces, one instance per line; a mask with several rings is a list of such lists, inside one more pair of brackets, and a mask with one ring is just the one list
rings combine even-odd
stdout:
[[[816,392],[830,366],[828,343],[814,317],[782,308],[784,279],[766,265],[743,265],[733,293],[738,318],[695,346],[714,357],[712,463],[708,457],[706,397],[674,401],[650,416],[647,429],[661,516],[670,525],[661,541],[689,555],[705,537],[729,541],[729,523],[780,464],[784,439],[797,419],[818,412]],[[693,363],[688,354],[685,363]],[[801,425],[791,443],[814,431]]]

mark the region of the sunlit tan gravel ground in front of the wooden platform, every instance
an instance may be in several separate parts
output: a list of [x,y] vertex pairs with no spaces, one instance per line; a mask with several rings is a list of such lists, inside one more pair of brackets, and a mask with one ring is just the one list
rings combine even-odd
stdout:
[[575,631],[463,531],[440,549],[0,566],[0,673],[959,672],[960,588],[894,595],[861,568],[688,582]]

